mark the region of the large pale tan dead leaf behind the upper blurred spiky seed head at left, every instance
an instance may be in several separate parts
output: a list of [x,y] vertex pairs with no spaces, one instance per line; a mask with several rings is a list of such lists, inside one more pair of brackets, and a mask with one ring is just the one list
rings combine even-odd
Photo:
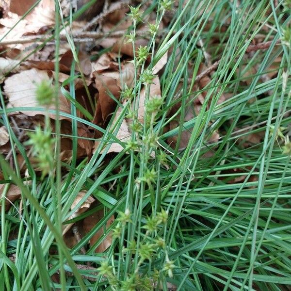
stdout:
[[[13,107],[37,107],[41,108],[35,97],[35,90],[37,84],[41,81],[50,81],[46,71],[30,69],[14,74],[5,80],[4,93],[9,99]],[[53,105],[49,109],[55,109]],[[67,99],[60,95],[60,111],[70,113],[70,103]],[[35,116],[36,114],[45,114],[45,111],[20,111],[28,116]],[[55,114],[50,113],[51,118],[55,118]],[[66,117],[60,116],[60,119]]]

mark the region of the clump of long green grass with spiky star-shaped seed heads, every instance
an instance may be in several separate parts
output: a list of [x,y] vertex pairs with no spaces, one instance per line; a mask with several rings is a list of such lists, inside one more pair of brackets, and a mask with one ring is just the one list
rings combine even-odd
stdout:
[[[56,82],[49,101],[56,110],[47,108],[44,132],[31,135],[36,157],[43,157],[41,149],[49,155],[53,148],[53,161],[39,161],[45,171],[42,177],[36,175],[9,123],[9,113],[23,108],[6,108],[0,93],[0,122],[10,134],[14,158],[14,169],[0,158],[1,183],[14,183],[22,191],[21,202],[9,211],[4,207],[8,186],[2,193],[0,290],[290,289],[291,14],[290,1],[279,0],[276,6],[274,2],[179,0],[174,7],[172,1],[156,0],[130,6],[132,27],[125,41],[133,47],[141,21],[156,12],[155,23],[148,26],[148,45],[136,48],[132,58],[132,86],[123,86],[110,122],[101,128],[86,118],[91,113],[77,115],[78,59],[73,62],[67,80],[71,114],[58,110]],[[162,28],[168,15],[171,20]],[[65,21],[61,23],[57,14],[56,72],[59,31]],[[257,43],[268,45],[247,52]],[[165,53],[168,60],[159,73],[161,98],[150,98],[153,67]],[[208,74],[206,86],[197,86],[201,67],[207,69],[216,61],[218,67]],[[145,113],[139,118],[142,90]],[[201,96],[199,111],[185,121]],[[47,105],[47,99],[44,102]],[[51,134],[51,112],[72,121],[70,162],[60,160],[61,124],[56,121]],[[131,136],[121,142],[116,134],[125,117],[131,120]],[[77,159],[77,123],[103,133],[90,160]],[[187,145],[181,149],[186,133]],[[219,138],[211,141],[215,133]],[[37,148],[38,140],[46,146]],[[112,143],[123,150],[107,154]],[[25,175],[17,153],[26,162]],[[71,209],[81,190],[86,195]],[[90,195],[99,201],[104,217],[69,249],[62,226],[92,214],[89,210],[67,221]],[[106,227],[112,215],[115,220]],[[89,246],[100,229],[104,235]],[[109,236],[110,247],[95,253]],[[88,263],[90,267],[80,268]],[[59,283],[52,280],[55,273],[60,273]]]

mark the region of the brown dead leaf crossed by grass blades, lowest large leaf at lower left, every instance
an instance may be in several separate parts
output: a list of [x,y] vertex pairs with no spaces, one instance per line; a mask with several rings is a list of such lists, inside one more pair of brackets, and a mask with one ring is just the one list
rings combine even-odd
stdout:
[[[94,214],[86,217],[83,222],[83,228],[86,233],[88,233],[97,223],[103,218],[104,211],[98,210]],[[114,221],[114,216],[112,215],[109,220],[106,222],[106,228],[108,228]],[[104,227],[101,227],[97,233],[90,239],[90,245],[94,245],[104,234]],[[95,249],[96,253],[103,253],[110,245],[112,244],[112,234],[109,233],[103,241]]]

